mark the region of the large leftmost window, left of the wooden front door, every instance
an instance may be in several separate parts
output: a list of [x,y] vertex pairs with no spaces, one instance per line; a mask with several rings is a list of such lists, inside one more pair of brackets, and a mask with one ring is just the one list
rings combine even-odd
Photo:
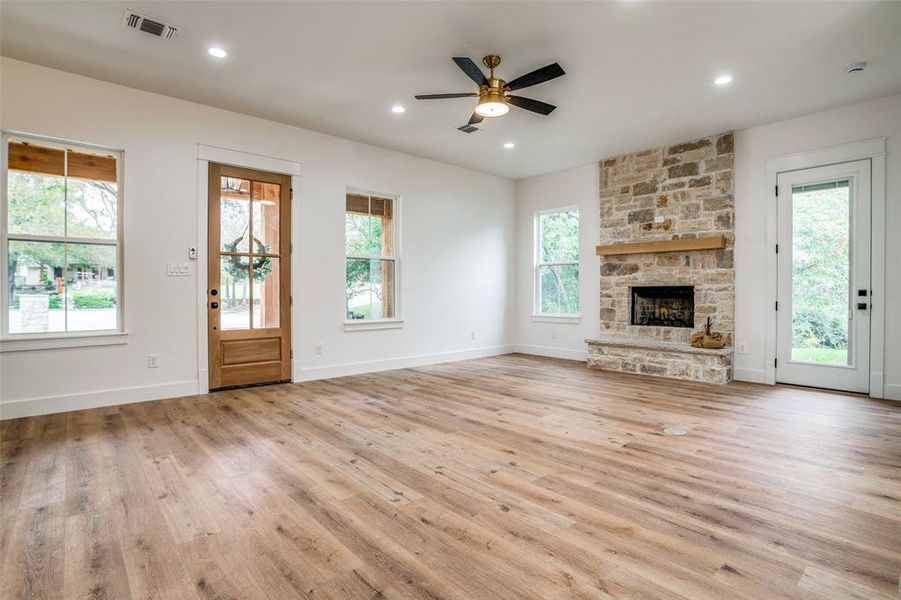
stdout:
[[121,153],[2,139],[3,335],[121,331]]

